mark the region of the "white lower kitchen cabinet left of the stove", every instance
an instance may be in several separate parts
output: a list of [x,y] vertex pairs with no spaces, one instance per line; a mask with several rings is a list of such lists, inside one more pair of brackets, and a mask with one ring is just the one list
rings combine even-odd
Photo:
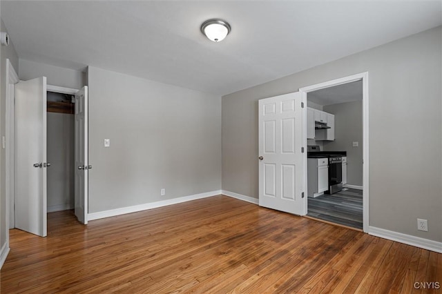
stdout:
[[307,160],[308,197],[318,197],[329,189],[328,163],[328,158],[309,158]]

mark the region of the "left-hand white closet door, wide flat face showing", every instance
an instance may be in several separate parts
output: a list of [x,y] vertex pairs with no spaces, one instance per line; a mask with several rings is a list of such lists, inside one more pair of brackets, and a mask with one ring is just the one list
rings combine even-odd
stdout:
[[15,84],[15,227],[46,236],[46,77]]

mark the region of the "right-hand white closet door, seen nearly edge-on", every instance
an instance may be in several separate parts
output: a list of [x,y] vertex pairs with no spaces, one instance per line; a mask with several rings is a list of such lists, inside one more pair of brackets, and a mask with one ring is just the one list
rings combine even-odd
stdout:
[[88,224],[88,87],[75,94],[75,216]]

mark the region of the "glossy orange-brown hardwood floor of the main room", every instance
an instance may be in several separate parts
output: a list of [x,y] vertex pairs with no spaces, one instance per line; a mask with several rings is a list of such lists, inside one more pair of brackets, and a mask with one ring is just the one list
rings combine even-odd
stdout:
[[[226,196],[10,231],[1,293],[441,293],[442,255]],[[436,284],[433,284],[436,285]]]

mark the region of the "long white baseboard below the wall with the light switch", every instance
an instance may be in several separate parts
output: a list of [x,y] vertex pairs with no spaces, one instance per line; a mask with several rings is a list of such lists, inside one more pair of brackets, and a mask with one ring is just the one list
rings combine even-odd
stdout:
[[202,199],[206,197],[216,196],[220,195],[221,190],[215,190],[211,192],[206,193],[200,193],[190,196],[184,196],[179,198],[173,198],[173,199],[167,199],[152,203],[146,203],[146,204],[140,204],[140,205],[134,205],[134,206],[127,206],[123,208],[116,208],[111,210],[105,210],[105,211],[99,211],[98,213],[89,213],[88,214],[88,220],[94,220],[94,219],[103,219],[105,217],[115,217],[116,215],[124,215],[126,213],[136,213],[138,211],[142,210],[148,210],[152,208],[158,208],[162,206],[168,206],[172,204],[178,204],[182,202],[188,202],[196,199]]

